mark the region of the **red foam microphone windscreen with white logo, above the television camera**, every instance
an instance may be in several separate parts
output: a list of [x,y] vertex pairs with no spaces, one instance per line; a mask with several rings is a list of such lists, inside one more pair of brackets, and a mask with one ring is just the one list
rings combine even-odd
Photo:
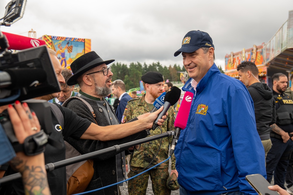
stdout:
[[22,50],[31,47],[38,47],[40,45],[46,45],[46,42],[40,39],[33,39],[30,37],[25,37],[17,34],[11,34],[8,32],[2,32],[7,40],[9,47],[8,49]]

